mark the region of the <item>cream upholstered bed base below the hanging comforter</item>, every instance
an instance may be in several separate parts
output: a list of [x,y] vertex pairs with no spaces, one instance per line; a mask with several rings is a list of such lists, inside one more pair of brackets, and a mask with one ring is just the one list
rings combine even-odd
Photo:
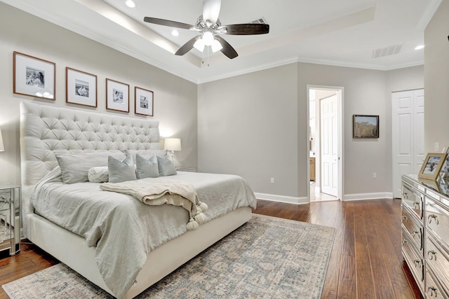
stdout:
[[[241,207],[154,249],[149,253],[147,262],[140,270],[135,284],[126,293],[125,298],[134,298],[142,293],[208,246],[239,228],[250,218],[251,208]],[[36,214],[27,214],[27,222],[29,223],[27,238],[31,242],[112,294],[103,281],[95,262],[95,248],[88,247],[83,237]],[[182,251],[179,250],[180,248]]]

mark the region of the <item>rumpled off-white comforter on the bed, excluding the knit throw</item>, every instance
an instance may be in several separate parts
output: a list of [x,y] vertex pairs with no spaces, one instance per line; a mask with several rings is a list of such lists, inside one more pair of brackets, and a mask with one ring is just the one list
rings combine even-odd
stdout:
[[[239,207],[256,206],[255,195],[240,176],[178,172],[206,202],[206,221]],[[132,286],[147,254],[185,233],[189,213],[168,204],[149,206],[131,195],[100,190],[99,183],[62,183],[59,167],[36,185],[37,214],[86,238],[106,285],[117,298]]]

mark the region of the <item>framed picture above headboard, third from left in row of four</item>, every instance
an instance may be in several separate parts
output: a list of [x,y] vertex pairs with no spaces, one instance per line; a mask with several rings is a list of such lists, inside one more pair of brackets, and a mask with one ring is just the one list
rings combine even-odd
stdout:
[[129,112],[129,85],[106,79],[106,109]]

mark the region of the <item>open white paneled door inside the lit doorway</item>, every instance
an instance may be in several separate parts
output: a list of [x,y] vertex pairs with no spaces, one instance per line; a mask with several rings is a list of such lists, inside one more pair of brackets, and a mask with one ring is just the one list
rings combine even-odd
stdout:
[[321,192],[338,196],[338,98],[321,99]]

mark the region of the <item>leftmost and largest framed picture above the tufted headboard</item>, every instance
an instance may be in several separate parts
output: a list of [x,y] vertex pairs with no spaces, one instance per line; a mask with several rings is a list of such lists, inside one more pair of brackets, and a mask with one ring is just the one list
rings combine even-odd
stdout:
[[13,93],[55,100],[56,64],[15,51],[13,55]]

